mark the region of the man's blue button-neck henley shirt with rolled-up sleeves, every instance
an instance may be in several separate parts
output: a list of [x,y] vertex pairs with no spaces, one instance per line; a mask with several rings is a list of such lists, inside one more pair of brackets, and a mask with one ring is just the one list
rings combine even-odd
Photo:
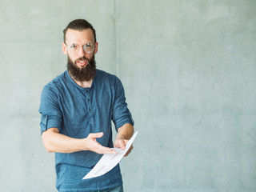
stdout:
[[[78,86],[65,71],[42,90],[41,133],[58,128],[71,138],[86,138],[90,133],[103,132],[97,141],[113,147],[111,120],[116,130],[126,123],[134,125],[127,108],[122,82],[114,75],[97,70],[90,88]],[[122,185],[119,166],[98,178],[82,180],[102,154],[79,151],[55,154],[59,191],[104,190]]]

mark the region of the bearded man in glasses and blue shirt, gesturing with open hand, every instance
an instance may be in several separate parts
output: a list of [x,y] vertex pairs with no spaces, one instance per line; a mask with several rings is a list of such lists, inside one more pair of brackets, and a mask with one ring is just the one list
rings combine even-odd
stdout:
[[[115,154],[111,147],[124,150],[134,133],[122,82],[96,70],[98,42],[89,22],[74,20],[63,33],[67,70],[43,88],[39,109],[42,141],[55,153],[56,187],[60,192],[123,191],[119,165],[98,178],[82,180],[102,154]],[[111,120],[118,131],[114,145]]]

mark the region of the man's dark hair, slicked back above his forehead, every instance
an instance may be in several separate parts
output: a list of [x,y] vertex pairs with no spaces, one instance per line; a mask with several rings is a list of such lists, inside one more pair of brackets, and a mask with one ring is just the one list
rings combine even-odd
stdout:
[[70,22],[67,26],[66,29],[63,30],[64,34],[64,42],[66,43],[66,31],[68,29],[71,30],[87,30],[91,29],[94,34],[94,42],[96,42],[96,31],[94,30],[94,27],[90,24],[90,22],[87,22],[85,19],[75,19],[74,21]]

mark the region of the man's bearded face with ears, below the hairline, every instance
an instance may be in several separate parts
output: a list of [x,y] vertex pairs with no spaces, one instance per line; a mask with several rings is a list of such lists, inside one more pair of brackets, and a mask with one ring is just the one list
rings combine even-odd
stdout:
[[[94,51],[90,54],[82,49],[82,46],[88,43],[94,45]],[[78,51],[74,51],[70,48],[70,46],[74,44],[80,46]],[[94,34],[92,30],[67,30],[66,43],[62,43],[62,51],[64,54],[68,55],[67,68],[70,75],[75,80],[89,81],[94,77],[96,67],[94,54],[98,52],[98,42],[94,43]]]

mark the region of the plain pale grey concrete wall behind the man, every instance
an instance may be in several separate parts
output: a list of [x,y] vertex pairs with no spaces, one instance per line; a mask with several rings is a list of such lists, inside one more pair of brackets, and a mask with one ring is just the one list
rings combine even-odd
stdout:
[[38,106],[74,18],[94,25],[140,131],[127,192],[256,191],[254,0],[1,0],[0,191],[55,191]]

